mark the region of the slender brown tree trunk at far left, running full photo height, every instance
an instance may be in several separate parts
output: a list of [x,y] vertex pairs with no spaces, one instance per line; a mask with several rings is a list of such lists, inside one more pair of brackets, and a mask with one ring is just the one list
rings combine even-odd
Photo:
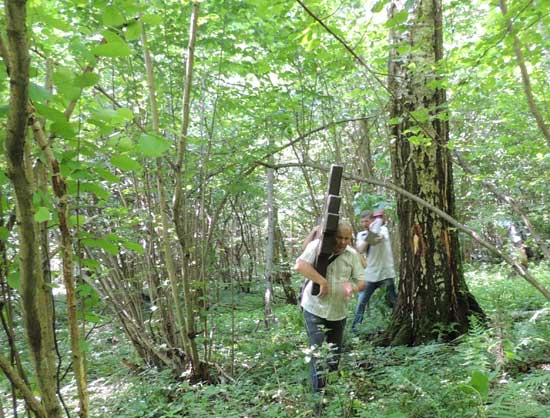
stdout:
[[6,132],[8,175],[15,190],[19,221],[20,292],[25,330],[36,371],[41,403],[48,417],[61,416],[56,396],[56,362],[52,324],[51,288],[42,274],[39,230],[34,220],[32,170],[28,146],[29,54],[26,34],[26,2],[6,1],[10,110]]

